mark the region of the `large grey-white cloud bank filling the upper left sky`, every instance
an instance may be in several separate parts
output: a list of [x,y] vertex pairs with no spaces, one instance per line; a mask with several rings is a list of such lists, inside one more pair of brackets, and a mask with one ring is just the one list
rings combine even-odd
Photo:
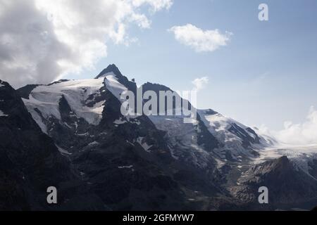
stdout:
[[130,44],[135,24],[149,28],[141,8],[168,9],[173,0],[0,0],[0,79],[22,86],[48,83],[93,68],[107,42]]

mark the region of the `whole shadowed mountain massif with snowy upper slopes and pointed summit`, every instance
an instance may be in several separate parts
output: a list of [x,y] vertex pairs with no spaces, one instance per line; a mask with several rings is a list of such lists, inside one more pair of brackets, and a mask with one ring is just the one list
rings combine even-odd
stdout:
[[[317,202],[315,161],[309,174],[287,158],[254,165],[271,140],[213,110],[197,110],[192,124],[123,115],[120,94],[140,88],[171,91],[137,88],[116,65],[95,79],[17,91],[1,82],[0,209],[275,210]],[[58,189],[58,205],[47,205],[48,186]],[[271,204],[257,202],[260,186]]]

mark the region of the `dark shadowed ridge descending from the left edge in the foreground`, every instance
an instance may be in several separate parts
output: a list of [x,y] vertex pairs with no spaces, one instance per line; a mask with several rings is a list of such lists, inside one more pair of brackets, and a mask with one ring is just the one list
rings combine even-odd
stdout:
[[[17,92],[1,82],[0,110],[0,209],[49,210],[46,188],[58,189],[58,208],[65,205],[64,194],[77,191],[79,180],[70,163],[58,152],[54,141],[43,134],[27,112]],[[70,193],[68,199],[73,198]]]

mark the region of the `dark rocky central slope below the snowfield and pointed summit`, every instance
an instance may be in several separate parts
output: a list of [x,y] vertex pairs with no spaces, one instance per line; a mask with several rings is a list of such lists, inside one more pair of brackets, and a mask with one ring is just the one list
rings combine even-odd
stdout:
[[[128,81],[122,75],[116,78]],[[199,210],[189,195],[196,190],[211,196],[221,193],[211,177],[213,161],[211,172],[205,174],[178,162],[164,139],[166,132],[156,129],[149,117],[123,117],[120,101],[105,86],[98,94],[88,96],[85,106],[100,101],[104,101],[104,110],[97,125],[76,115],[64,95],[58,101],[60,119],[44,118],[35,109],[49,136],[85,184],[82,194],[96,195],[97,202],[111,210]],[[97,205],[91,199],[92,205]]]

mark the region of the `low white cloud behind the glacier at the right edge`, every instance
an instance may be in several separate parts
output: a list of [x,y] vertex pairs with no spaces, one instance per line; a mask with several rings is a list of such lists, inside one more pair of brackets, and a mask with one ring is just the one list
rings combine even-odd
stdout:
[[264,134],[273,136],[277,141],[286,145],[306,146],[317,144],[317,110],[311,106],[306,121],[294,124],[287,121],[284,129],[280,131],[269,131],[266,127],[261,130]]

